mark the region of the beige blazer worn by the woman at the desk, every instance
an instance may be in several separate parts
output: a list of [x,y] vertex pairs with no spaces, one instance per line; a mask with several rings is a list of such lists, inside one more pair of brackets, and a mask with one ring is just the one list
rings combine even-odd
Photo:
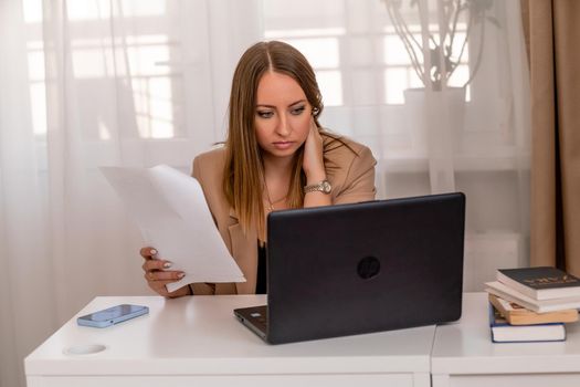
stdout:
[[[346,146],[328,150],[327,179],[333,186],[333,203],[349,203],[375,199],[375,165],[369,148],[342,138],[358,155]],[[238,221],[238,216],[228,203],[222,189],[224,148],[217,148],[199,155],[193,160],[192,176],[198,179],[205,195],[205,200],[215,220],[228,250],[238,262],[246,282],[241,283],[196,283],[193,294],[253,294],[257,273],[257,233],[251,229],[246,234]]]

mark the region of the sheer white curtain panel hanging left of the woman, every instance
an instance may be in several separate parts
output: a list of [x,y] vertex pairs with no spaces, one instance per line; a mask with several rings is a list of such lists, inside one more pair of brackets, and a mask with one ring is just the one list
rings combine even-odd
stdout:
[[96,295],[151,294],[140,236],[97,167],[168,164],[223,138],[254,1],[0,2],[0,386]]

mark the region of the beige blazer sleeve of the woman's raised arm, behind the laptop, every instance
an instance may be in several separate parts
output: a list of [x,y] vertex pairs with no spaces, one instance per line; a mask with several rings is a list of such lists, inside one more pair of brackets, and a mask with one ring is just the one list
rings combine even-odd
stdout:
[[375,187],[375,166],[377,160],[368,147],[362,147],[348,166],[345,184],[337,194],[334,203],[354,203],[359,201],[375,200],[377,189]]

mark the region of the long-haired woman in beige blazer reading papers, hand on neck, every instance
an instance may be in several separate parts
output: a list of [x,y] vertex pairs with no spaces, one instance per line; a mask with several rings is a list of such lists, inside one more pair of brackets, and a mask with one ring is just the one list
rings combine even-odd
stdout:
[[[282,42],[261,42],[240,59],[223,147],[193,160],[210,211],[245,283],[196,283],[169,293],[184,274],[141,249],[149,286],[169,296],[265,293],[266,216],[271,211],[375,199],[369,148],[320,127],[320,91],[306,59]],[[156,259],[152,259],[156,258]]]

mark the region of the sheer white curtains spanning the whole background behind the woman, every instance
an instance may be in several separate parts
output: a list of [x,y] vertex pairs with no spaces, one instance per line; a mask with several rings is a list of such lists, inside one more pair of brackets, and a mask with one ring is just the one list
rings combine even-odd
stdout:
[[[442,25],[441,1],[420,0],[422,15],[402,3],[413,33]],[[323,123],[371,146],[381,197],[467,194],[467,289],[526,263],[519,2],[488,14],[497,27],[455,125],[457,107],[434,95],[426,111],[405,103],[421,84],[383,0],[0,1],[0,386],[23,385],[23,357],[94,296],[150,294],[138,231],[97,167],[189,171],[223,139],[233,66],[261,39],[306,54]],[[476,38],[453,82],[473,70]]]

